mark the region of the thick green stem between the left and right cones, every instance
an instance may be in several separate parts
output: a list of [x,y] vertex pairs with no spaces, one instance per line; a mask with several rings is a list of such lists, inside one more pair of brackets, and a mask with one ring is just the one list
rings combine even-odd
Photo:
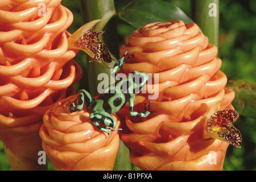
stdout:
[[[102,41],[106,44],[112,57],[117,60],[117,58],[119,58],[119,47],[117,24],[115,23],[114,0],[81,0],[81,3],[84,23],[90,22],[94,19],[102,19],[95,29],[98,32],[102,30],[105,31]],[[113,67],[112,65],[114,64],[114,61],[112,62],[113,63],[109,65],[110,68]],[[98,96],[99,93],[97,91],[97,86],[101,80],[97,80],[97,77],[100,73],[106,73],[110,78],[110,69],[105,68],[97,62],[88,63],[87,60],[87,72],[90,94],[92,94],[92,96]],[[120,140],[114,170],[120,171],[131,169],[132,164],[130,162],[129,150]]]

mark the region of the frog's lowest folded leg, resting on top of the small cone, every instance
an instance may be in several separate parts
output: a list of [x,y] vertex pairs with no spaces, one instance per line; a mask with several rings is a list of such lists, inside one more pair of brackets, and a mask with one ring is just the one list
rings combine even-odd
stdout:
[[[111,131],[117,131],[122,129],[114,129],[117,126],[117,121],[109,114],[104,111],[91,113],[89,115],[90,120],[93,125],[97,127],[98,130],[108,133]],[[110,138],[110,135],[109,135]]]

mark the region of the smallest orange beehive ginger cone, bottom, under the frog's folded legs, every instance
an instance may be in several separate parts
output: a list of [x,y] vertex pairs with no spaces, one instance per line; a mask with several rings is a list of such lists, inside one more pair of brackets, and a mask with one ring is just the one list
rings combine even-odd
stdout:
[[[95,127],[90,110],[70,113],[68,107],[77,96],[58,102],[44,115],[40,129],[43,149],[56,170],[112,170],[119,146],[118,132],[108,134]],[[115,114],[117,128],[120,121]]]

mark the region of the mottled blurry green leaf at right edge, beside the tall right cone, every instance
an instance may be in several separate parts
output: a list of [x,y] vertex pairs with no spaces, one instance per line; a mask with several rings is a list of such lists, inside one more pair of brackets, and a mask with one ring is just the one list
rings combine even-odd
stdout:
[[236,93],[232,105],[237,112],[245,117],[256,118],[256,82],[229,81],[226,87]]

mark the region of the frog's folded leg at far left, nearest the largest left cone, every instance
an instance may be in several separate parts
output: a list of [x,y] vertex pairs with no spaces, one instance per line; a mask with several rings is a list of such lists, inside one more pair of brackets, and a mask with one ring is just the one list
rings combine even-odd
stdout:
[[77,92],[76,101],[69,105],[68,110],[69,112],[73,113],[77,110],[81,110],[84,107],[84,104],[90,109],[90,106],[92,106],[94,101],[94,98],[90,95],[89,92],[81,89],[79,92]]

